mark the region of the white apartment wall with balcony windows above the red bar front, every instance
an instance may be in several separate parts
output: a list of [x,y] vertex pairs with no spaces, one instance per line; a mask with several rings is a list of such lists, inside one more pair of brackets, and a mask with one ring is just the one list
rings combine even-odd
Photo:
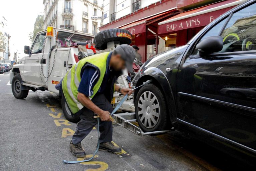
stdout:
[[145,8],[159,0],[104,0],[103,24]]

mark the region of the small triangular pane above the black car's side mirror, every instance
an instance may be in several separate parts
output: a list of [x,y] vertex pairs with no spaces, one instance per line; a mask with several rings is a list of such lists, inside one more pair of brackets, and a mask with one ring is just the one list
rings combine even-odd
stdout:
[[[219,22],[218,24],[216,24],[214,27],[212,27],[202,38],[199,42],[201,42],[202,40],[206,39],[207,37],[210,36],[218,36],[221,32],[221,29],[223,27],[223,25],[226,23],[227,18],[225,18],[224,20],[222,20],[221,22]],[[198,42],[198,43],[199,43]],[[198,49],[194,49],[192,55],[196,55],[198,53]]]

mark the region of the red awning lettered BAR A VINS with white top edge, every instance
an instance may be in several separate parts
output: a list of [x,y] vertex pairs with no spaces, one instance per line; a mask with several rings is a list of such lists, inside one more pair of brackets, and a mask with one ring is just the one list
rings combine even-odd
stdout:
[[226,0],[175,15],[158,25],[158,34],[206,26],[244,0]]

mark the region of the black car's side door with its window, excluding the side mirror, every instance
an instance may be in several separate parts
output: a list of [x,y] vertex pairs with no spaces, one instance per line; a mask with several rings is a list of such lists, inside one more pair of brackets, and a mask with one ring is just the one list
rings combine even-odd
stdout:
[[[223,49],[200,57],[196,44],[177,76],[181,122],[256,150],[256,4],[223,19],[196,40],[221,36]],[[249,147],[249,148],[248,148]]]

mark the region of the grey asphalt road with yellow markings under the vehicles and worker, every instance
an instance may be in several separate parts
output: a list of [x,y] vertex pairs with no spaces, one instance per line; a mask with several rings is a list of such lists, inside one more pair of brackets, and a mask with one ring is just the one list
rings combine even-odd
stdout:
[[[9,72],[0,74],[0,171],[220,171],[236,170],[234,159],[214,148],[173,131],[139,137],[122,127],[113,129],[113,141],[122,154],[99,151],[83,164],[69,152],[76,124],[62,115],[60,99],[48,91],[29,91],[23,100],[14,98]],[[97,131],[82,141],[90,157],[96,149]]]

